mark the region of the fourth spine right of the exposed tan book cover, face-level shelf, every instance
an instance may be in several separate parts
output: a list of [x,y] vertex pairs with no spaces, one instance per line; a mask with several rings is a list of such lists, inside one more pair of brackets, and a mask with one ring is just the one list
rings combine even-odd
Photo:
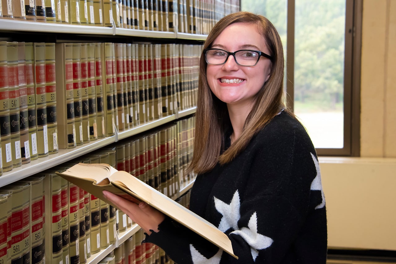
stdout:
[[96,88],[95,88],[95,43],[87,44],[87,80],[88,80],[89,140],[95,141],[98,138]]

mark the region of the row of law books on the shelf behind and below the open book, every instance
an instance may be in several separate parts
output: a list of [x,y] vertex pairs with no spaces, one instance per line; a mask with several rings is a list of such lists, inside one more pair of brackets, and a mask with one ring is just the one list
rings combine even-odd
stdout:
[[[178,190],[177,177],[182,167],[177,162],[177,155],[183,155],[177,149],[177,140],[183,129],[177,131],[177,127],[186,121],[141,135],[130,144],[115,143],[95,150],[0,188],[0,263],[83,264],[92,254],[116,243],[118,234],[131,228],[131,219],[55,172],[63,172],[78,162],[124,168],[129,161],[126,171],[171,196]],[[188,206],[185,198],[181,201]],[[135,248],[135,259],[157,255],[152,253],[159,250],[154,245],[141,244],[142,232],[135,237],[134,244],[139,246]]]

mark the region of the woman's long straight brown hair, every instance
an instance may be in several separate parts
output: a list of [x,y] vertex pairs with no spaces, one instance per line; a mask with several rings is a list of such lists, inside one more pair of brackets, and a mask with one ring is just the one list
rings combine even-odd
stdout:
[[203,49],[211,47],[213,41],[226,27],[237,22],[255,25],[259,33],[265,38],[272,56],[270,77],[257,93],[256,101],[246,118],[240,137],[225,152],[221,153],[224,148],[225,132],[231,128],[231,123],[227,104],[217,99],[211,92],[206,77],[205,55],[201,53],[195,113],[194,155],[187,167],[187,174],[192,172],[204,173],[213,169],[217,163],[225,164],[232,161],[281,109],[286,109],[283,89],[284,55],[282,42],[274,25],[267,18],[244,11],[227,15],[212,28]]

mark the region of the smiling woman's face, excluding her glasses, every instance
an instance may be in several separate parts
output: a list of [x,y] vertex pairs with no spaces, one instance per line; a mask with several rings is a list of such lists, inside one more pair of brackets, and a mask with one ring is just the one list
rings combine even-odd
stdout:
[[[269,53],[265,38],[256,24],[234,23],[226,27],[213,41],[211,48],[234,52],[251,49]],[[223,65],[209,65],[206,75],[211,91],[221,101],[230,105],[251,107],[255,95],[270,76],[271,61],[261,56],[255,66],[241,66],[229,56]]]

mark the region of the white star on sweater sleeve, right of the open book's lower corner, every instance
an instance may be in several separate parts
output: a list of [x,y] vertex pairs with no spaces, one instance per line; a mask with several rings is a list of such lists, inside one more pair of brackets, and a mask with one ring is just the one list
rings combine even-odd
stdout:
[[257,214],[256,212],[249,219],[247,227],[242,227],[240,230],[231,232],[231,234],[236,234],[241,236],[251,247],[251,256],[253,260],[256,260],[257,255],[259,255],[259,249],[266,249],[269,247],[274,240],[272,238],[263,236],[257,233]]

